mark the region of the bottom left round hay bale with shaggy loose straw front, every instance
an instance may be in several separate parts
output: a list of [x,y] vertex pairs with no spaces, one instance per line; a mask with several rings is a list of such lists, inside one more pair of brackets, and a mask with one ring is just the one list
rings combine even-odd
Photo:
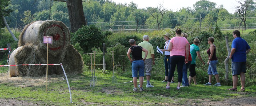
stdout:
[[[40,50],[38,45],[26,44],[16,49],[11,55],[15,62],[9,64],[46,64],[47,52]],[[60,64],[63,61],[61,56],[48,54],[48,64]],[[42,76],[46,75],[46,65],[22,65],[11,66],[10,77],[16,76]],[[14,73],[15,72],[15,73]],[[59,65],[48,65],[48,74],[60,74],[62,68]]]

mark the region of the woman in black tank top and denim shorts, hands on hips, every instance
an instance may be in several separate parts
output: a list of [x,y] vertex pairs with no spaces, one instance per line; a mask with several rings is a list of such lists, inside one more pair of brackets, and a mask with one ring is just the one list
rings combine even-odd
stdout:
[[[132,74],[133,74],[133,85],[134,85],[133,91],[138,91],[138,89],[137,89],[138,72],[139,72],[139,85],[140,85],[139,90],[144,91],[144,89],[142,87],[143,77],[144,77],[144,61],[147,57],[148,51],[145,48],[142,48],[141,46],[136,45],[134,39],[130,39],[129,43],[130,43],[131,47],[128,49],[127,56],[129,58],[129,60],[131,61]],[[141,55],[142,51],[146,52],[144,58],[142,58],[142,55]],[[131,59],[130,54],[132,55],[133,59]]]

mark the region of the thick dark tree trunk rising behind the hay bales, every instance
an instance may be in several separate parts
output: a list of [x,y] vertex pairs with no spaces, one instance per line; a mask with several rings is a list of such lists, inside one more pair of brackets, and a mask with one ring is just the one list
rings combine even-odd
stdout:
[[83,3],[82,0],[67,0],[66,3],[71,32],[74,33],[81,28],[82,25],[86,25]]

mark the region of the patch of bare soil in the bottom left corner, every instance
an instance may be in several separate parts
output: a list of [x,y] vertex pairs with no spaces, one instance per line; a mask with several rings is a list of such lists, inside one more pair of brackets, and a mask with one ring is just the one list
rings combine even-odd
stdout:
[[40,106],[38,104],[30,103],[24,100],[17,99],[0,99],[1,106]]

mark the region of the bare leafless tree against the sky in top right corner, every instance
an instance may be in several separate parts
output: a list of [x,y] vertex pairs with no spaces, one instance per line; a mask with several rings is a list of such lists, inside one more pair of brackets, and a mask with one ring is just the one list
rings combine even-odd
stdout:
[[[244,27],[246,28],[246,16],[248,11],[251,11],[254,8],[252,5],[254,4],[253,0],[237,0],[238,6],[236,7],[236,14],[240,17],[241,23],[243,22]],[[240,25],[239,25],[240,26]]]

